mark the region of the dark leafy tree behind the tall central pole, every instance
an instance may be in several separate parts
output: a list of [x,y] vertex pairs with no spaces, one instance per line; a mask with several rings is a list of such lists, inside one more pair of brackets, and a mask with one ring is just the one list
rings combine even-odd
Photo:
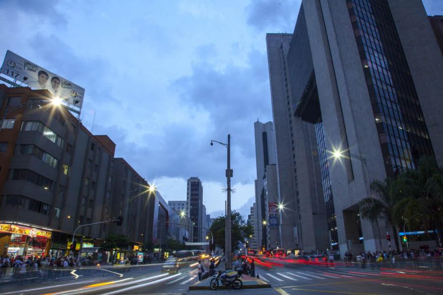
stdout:
[[[211,226],[211,232],[214,235],[214,244],[224,249],[224,229],[225,229],[225,217],[221,216],[214,220]],[[245,238],[249,238],[253,235],[252,226],[247,225],[243,216],[237,212],[232,211],[231,214],[231,249],[238,249],[238,244],[243,243]]]

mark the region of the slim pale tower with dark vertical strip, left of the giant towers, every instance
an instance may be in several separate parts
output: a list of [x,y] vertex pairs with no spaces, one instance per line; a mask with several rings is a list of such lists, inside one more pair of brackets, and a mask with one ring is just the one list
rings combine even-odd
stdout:
[[255,164],[257,170],[257,179],[255,180],[255,204],[256,228],[258,246],[266,247],[266,231],[262,222],[266,218],[266,207],[263,191],[263,177],[266,172],[266,165],[277,163],[275,150],[274,125],[272,122],[261,123],[258,120],[254,122],[255,134]]

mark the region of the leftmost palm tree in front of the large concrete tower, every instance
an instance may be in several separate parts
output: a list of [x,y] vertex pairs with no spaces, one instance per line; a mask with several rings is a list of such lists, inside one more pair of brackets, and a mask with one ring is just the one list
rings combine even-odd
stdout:
[[378,196],[378,198],[364,198],[358,202],[361,216],[376,223],[377,231],[380,235],[379,218],[384,218],[388,224],[392,226],[392,233],[394,234],[394,241],[397,251],[400,251],[398,241],[397,222],[393,218],[392,208],[397,200],[390,194],[392,179],[386,178],[384,181],[374,180],[371,183],[371,190]]

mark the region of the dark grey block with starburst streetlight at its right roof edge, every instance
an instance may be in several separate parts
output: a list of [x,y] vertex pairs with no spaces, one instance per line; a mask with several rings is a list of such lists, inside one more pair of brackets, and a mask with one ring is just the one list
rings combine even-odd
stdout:
[[154,227],[154,193],[147,190],[148,182],[123,158],[115,158],[115,184],[112,216],[123,216],[123,225],[111,224],[113,233],[126,235],[140,245],[151,241]]

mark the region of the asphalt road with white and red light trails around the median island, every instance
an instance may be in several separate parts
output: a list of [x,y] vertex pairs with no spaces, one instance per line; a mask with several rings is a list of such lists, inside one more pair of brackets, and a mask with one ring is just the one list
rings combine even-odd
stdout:
[[162,265],[122,268],[78,269],[65,274],[33,281],[23,277],[0,284],[0,294],[145,294],[145,295],[204,295],[204,294],[443,294],[443,271],[430,268],[401,267],[360,268],[344,265],[307,265],[291,259],[262,259],[255,272],[268,281],[272,289],[189,291],[198,280],[196,265],[182,265],[177,273],[164,273]]

